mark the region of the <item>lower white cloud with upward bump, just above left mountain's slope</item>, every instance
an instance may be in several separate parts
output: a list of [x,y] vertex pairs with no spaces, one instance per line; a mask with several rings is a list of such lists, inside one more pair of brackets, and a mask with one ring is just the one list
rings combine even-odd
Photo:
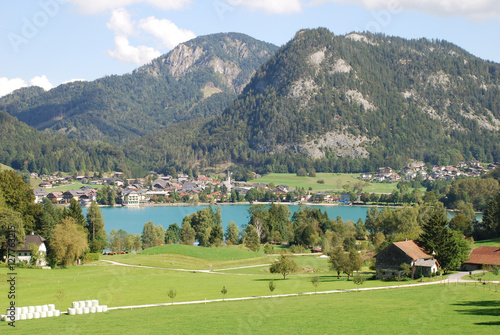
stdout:
[[131,46],[126,36],[115,36],[115,50],[107,50],[107,54],[124,63],[143,65],[159,57],[161,53],[154,48],[140,45]]

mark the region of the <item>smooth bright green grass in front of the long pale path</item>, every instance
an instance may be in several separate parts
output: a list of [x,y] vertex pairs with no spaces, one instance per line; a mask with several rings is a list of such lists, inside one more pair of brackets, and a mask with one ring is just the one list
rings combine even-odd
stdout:
[[[144,288],[144,285],[138,289]],[[19,321],[13,334],[498,334],[500,293],[436,285]],[[0,324],[4,332],[6,323]]]

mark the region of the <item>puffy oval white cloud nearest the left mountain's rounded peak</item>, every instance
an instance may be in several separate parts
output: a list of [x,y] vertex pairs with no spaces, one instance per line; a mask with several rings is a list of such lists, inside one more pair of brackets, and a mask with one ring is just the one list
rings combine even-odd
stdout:
[[159,38],[169,49],[196,37],[192,31],[179,28],[170,20],[157,19],[154,16],[139,21],[139,28]]

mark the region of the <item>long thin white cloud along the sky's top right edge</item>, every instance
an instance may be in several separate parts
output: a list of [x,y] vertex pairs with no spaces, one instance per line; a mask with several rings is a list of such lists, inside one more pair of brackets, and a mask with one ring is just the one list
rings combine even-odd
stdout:
[[313,0],[309,5],[325,2],[360,5],[368,10],[417,10],[434,16],[462,16],[471,20],[500,19],[498,0]]

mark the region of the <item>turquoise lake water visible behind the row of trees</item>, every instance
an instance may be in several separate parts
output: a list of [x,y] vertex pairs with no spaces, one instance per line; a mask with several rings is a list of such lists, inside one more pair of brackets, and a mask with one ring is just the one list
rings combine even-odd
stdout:
[[[177,223],[181,226],[182,219],[186,215],[205,208],[207,206],[165,206],[165,207],[144,207],[144,208],[129,208],[129,207],[103,207],[102,215],[104,218],[106,232],[113,229],[123,229],[130,234],[141,234],[144,224],[148,221],[153,221],[155,225],[161,224],[167,229],[172,223]],[[330,219],[335,219],[341,216],[344,221],[358,221],[366,218],[368,207],[362,206],[321,206],[307,205],[302,207],[319,208],[321,211],[326,211]],[[221,205],[222,225],[226,230],[229,221],[234,221],[240,228],[248,224],[248,208],[250,205]],[[301,206],[288,205],[290,213],[293,215]],[[86,209],[84,209],[84,213]],[[450,218],[454,213],[449,213]],[[478,219],[481,219],[478,216]]]

